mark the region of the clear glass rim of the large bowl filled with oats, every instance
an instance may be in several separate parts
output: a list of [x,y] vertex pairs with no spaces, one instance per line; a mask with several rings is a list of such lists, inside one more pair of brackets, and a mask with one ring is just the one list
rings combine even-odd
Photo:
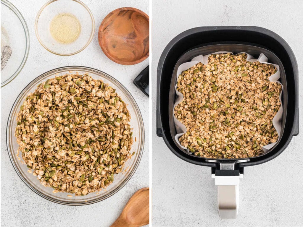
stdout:
[[[28,88],[32,87],[33,84],[36,84],[37,81],[39,81],[40,79],[43,79],[44,77],[47,77],[50,73],[54,73],[54,72],[60,72],[60,71],[77,71],[77,69],[81,69],[81,70],[84,70],[88,73],[92,72],[92,73],[95,73],[95,74],[102,74],[103,77],[105,77],[107,80],[111,81],[112,83],[114,84],[117,84],[118,86],[120,86],[119,88],[122,90],[122,92],[124,92],[125,95],[128,96],[128,98],[132,101],[132,105],[135,107],[135,111],[137,112],[137,115],[138,115],[138,125],[141,129],[141,143],[139,144],[139,156],[138,156],[138,159],[132,169],[132,171],[130,172],[130,174],[123,179],[123,181],[115,188],[112,190],[111,193],[108,193],[106,194],[105,196],[102,196],[98,199],[93,199],[93,200],[90,200],[88,202],[66,202],[66,201],[61,201],[61,200],[57,200],[57,199],[53,199],[53,198],[50,198],[48,197],[47,195],[43,194],[43,192],[40,192],[39,190],[36,190],[35,188],[33,188],[23,177],[22,177],[22,173],[20,173],[18,171],[18,168],[17,166],[15,165],[15,162],[13,161],[13,158],[12,158],[12,155],[15,155],[15,153],[13,153],[14,151],[12,150],[11,146],[10,146],[10,143],[11,143],[11,140],[14,139],[14,138],[10,138],[8,135],[10,134],[10,122],[12,122],[12,120],[14,120],[14,116],[12,116],[12,113],[14,112],[15,108],[18,108],[17,106],[17,103],[19,101],[22,101],[24,99],[22,99],[22,97],[24,98],[25,95],[28,94]],[[6,146],[7,146],[7,150],[8,150],[8,156],[9,156],[9,159],[12,163],[12,166],[14,167],[16,173],[18,174],[18,176],[20,177],[20,179],[25,183],[26,186],[28,186],[33,192],[35,192],[36,194],[38,194],[39,196],[41,196],[42,198],[44,199],[47,199],[51,202],[55,202],[55,203],[58,203],[58,204],[63,204],[63,205],[70,205],[70,206],[82,206],[82,205],[88,205],[88,204],[93,204],[93,203],[96,203],[96,202],[100,202],[104,199],[107,199],[108,197],[114,195],[116,192],[118,192],[120,189],[122,189],[125,184],[132,178],[132,176],[134,175],[136,169],[138,168],[138,165],[141,161],[141,158],[142,158],[142,153],[143,153],[143,149],[144,149],[144,124],[143,124],[143,119],[142,119],[142,115],[141,115],[141,112],[140,112],[140,109],[134,99],[134,97],[130,94],[130,92],[119,82],[117,81],[114,77],[106,74],[105,72],[102,72],[100,70],[97,70],[97,69],[94,69],[94,68],[91,68],[91,67],[84,67],[84,66],[65,66],[65,67],[58,67],[58,68],[55,68],[55,69],[52,69],[52,70],[49,70],[41,75],[39,75],[38,77],[36,77],[35,79],[33,79],[30,83],[28,83],[25,88],[20,92],[20,94],[18,95],[18,97],[16,98],[13,106],[12,106],[12,109],[9,113],[9,117],[8,117],[8,121],[7,121],[7,126],[6,126]]]

